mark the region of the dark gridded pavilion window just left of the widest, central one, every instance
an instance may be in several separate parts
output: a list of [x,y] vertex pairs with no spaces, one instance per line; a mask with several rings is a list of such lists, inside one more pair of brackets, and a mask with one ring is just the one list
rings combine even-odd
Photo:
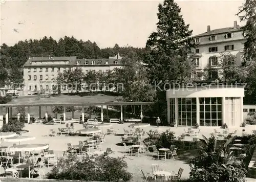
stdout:
[[182,126],[194,126],[196,123],[196,98],[178,98],[178,124]]

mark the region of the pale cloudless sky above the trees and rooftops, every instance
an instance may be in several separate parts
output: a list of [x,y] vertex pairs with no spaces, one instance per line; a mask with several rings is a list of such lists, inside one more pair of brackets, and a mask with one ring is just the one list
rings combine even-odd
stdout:
[[[6,1],[6,2],[5,2]],[[158,4],[163,1],[24,1],[1,0],[0,44],[11,46],[19,40],[65,35],[95,41],[100,48],[131,45],[145,47],[156,31]],[[3,3],[4,2],[4,3]],[[193,35],[212,29],[232,27],[240,22],[238,8],[243,1],[175,1]]]

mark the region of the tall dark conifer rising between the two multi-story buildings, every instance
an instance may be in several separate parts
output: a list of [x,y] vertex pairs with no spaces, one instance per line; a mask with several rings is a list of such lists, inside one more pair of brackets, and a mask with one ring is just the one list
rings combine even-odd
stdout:
[[151,80],[183,82],[190,77],[191,61],[187,58],[194,47],[192,31],[188,30],[181,8],[174,0],[165,0],[158,6],[157,31],[146,42],[145,54]]

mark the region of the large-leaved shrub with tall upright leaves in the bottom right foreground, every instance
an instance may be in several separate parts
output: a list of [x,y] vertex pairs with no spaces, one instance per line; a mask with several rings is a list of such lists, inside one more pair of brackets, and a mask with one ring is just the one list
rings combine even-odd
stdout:
[[246,169],[239,160],[232,160],[233,151],[227,152],[232,139],[216,151],[217,139],[200,139],[204,145],[201,155],[190,161],[190,181],[246,181]]

